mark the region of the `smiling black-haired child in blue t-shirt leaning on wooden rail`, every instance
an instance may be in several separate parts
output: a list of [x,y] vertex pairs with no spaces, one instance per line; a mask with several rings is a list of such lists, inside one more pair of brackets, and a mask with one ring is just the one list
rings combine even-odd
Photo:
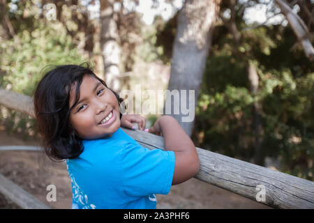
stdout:
[[34,94],[38,131],[46,154],[66,160],[72,208],[156,208],[154,194],[197,174],[195,146],[171,116],[149,132],[163,134],[165,151],[143,148],[121,126],[145,119],[119,112],[119,95],[84,66],[57,66]]

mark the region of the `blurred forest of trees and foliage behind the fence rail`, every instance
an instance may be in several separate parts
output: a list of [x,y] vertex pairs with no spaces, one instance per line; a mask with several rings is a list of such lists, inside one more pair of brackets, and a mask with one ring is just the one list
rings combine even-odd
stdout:
[[[301,39],[278,1],[166,2],[172,16],[147,24],[137,0],[0,0],[0,87],[32,96],[45,66],[88,61],[113,89],[173,89],[180,74],[172,64],[184,56],[174,54],[182,12],[214,8],[209,31],[192,33],[207,41],[200,75],[189,71],[197,103],[185,130],[197,147],[313,180],[314,63],[302,41],[313,45],[314,1],[283,1],[306,26]],[[264,22],[250,21],[254,8]],[[193,18],[200,26],[203,15]],[[38,137],[33,118],[0,109],[1,128]],[[146,117],[151,125],[158,115]]]

